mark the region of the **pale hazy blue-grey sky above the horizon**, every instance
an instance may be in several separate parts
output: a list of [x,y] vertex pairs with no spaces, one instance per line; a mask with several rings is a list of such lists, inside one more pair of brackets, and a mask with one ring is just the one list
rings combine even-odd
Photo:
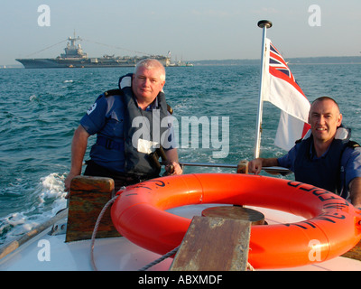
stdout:
[[89,57],[255,60],[263,19],[284,58],[361,56],[360,0],[1,0],[0,64],[57,57],[74,31]]

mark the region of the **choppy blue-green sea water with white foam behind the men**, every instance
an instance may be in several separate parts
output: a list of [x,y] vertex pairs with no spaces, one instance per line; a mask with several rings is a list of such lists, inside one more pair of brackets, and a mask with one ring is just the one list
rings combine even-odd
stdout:
[[[320,96],[338,100],[344,124],[361,142],[361,65],[291,64],[290,68],[310,101]],[[116,89],[118,78],[133,70],[0,70],[0,244],[66,207],[64,180],[74,130],[97,96]],[[259,71],[258,65],[167,68],[164,91],[173,116],[180,124],[184,117],[208,119],[210,124],[190,131],[189,139],[180,142],[181,161],[236,164],[253,158]],[[215,129],[212,117],[218,120],[218,140],[227,140],[228,150],[202,142]],[[264,104],[261,156],[285,153],[273,144],[279,117],[278,108]],[[222,126],[227,129],[222,131]],[[196,136],[198,145],[191,136]],[[94,141],[95,137],[89,139],[88,151]],[[214,154],[220,151],[223,154]],[[185,173],[189,172],[233,171],[186,167]]]

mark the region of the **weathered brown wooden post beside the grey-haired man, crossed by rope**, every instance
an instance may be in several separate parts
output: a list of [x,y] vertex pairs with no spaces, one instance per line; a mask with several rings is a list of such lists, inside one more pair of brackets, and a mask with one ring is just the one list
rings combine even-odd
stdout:
[[[66,242],[90,239],[97,218],[114,194],[114,180],[77,176],[71,181]],[[97,229],[97,238],[119,237],[106,210]]]

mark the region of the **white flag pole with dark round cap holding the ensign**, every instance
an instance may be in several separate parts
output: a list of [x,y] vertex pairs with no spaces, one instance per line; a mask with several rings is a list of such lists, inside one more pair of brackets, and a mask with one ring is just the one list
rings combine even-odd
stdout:
[[258,27],[264,30],[263,40],[262,40],[262,53],[261,53],[261,80],[260,80],[260,91],[258,99],[258,113],[257,113],[257,124],[255,127],[255,158],[258,158],[260,155],[261,148],[261,133],[262,133],[262,114],[264,101],[262,99],[262,91],[264,85],[264,56],[265,56],[265,44],[266,44],[266,34],[267,28],[272,27],[272,22],[268,20],[261,20],[258,22]]

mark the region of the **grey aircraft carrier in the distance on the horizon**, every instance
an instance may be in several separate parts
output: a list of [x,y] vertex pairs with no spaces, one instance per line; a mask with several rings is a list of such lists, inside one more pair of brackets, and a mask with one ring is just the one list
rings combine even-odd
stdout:
[[58,68],[110,68],[110,67],[134,67],[137,62],[146,58],[153,58],[161,61],[164,66],[171,65],[171,58],[161,55],[147,55],[134,57],[115,57],[114,55],[104,55],[100,58],[88,58],[80,44],[80,37],[69,37],[65,53],[57,58],[51,59],[16,59],[23,64],[25,69],[58,69]]

